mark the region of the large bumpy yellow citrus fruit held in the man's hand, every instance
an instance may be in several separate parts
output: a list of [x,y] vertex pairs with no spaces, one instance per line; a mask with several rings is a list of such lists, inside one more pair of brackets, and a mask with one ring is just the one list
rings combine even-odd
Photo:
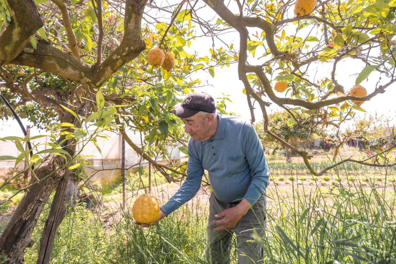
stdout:
[[132,216],[138,223],[150,224],[160,217],[160,205],[153,196],[143,194],[133,204]]

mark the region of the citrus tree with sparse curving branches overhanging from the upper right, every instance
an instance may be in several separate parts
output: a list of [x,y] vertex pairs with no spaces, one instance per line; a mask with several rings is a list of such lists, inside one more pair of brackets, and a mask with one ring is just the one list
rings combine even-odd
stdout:
[[[301,155],[313,175],[320,176],[345,162],[396,165],[394,156],[383,159],[381,164],[367,162],[374,157],[365,161],[349,157],[315,171],[307,149],[271,131],[267,115],[267,107],[275,103],[290,113],[294,126],[310,122],[310,126],[321,123],[337,128],[354,111],[364,111],[364,101],[384,93],[396,81],[394,0],[236,0],[229,5],[224,1],[204,2],[219,15],[225,28],[238,31],[240,36],[234,57],[238,59],[238,77],[245,86],[251,120],[255,121],[253,98],[259,103],[264,131]],[[234,52],[233,46],[229,48]],[[356,76],[353,87],[344,87],[344,80],[337,78],[337,72],[343,71],[339,68],[343,61],[361,65],[348,68]],[[330,73],[316,76],[318,68],[324,67],[330,68]],[[375,72],[380,76],[375,87],[360,85]],[[391,155],[394,146],[393,141],[389,142],[373,156]]]

